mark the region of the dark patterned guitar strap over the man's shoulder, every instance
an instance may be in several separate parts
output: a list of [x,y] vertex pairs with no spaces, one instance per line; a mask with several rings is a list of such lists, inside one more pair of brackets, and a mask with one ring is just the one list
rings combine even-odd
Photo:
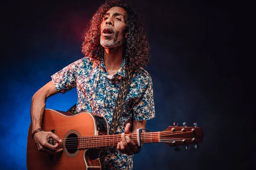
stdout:
[[[115,110],[113,112],[113,117],[112,117],[112,122],[110,127],[111,134],[116,133],[116,128],[118,127],[118,124],[119,124],[119,119],[122,114],[122,109],[125,105],[125,99],[129,92],[133,75],[134,75],[134,68],[129,65],[126,65],[126,76],[125,78],[122,79],[122,82],[119,88],[119,93],[116,99],[116,104],[114,108]],[[70,108],[67,112],[75,113],[75,111],[76,111],[76,104],[73,105],[72,108]]]

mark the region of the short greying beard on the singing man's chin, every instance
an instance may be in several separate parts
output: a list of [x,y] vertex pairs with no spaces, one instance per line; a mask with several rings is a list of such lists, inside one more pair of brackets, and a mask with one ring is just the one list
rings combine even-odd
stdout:
[[118,47],[124,43],[125,39],[116,32],[112,36],[100,36],[100,44],[104,48]]

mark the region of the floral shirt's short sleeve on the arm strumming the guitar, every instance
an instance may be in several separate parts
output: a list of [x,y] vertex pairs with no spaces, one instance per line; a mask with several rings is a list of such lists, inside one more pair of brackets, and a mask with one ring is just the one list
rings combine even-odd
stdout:
[[76,79],[83,59],[79,59],[51,76],[55,88],[62,94],[76,87]]

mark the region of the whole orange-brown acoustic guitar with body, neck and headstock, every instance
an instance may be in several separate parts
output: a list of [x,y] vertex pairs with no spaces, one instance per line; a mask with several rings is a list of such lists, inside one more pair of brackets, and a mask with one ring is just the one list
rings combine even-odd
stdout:
[[[102,116],[81,112],[73,115],[68,112],[46,109],[42,119],[41,128],[51,131],[59,136],[61,142],[58,148],[63,152],[48,154],[38,151],[38,147],[31,137],[31,125],[29,126],[27,140],[27,169],[28,170],[101,170],[99,155],[102,147],[117,146],[121,141],[121,134],[108,135],[108,123]],[[201,127],[169,126],[164,131],[140,132],[126,134],[136,144],[163,142],[175,150],[180,145],[197,144],[203,141]],[[55,140],[48,141],[54,145]]]

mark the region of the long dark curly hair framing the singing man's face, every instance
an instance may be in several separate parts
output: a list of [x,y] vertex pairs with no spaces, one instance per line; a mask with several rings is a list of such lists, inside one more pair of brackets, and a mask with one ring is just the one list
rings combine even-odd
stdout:
[[126,28],[128,32],[124,42],[123,57],[126,64],[133,67],[143,67],[148,64],[149,43],[139,15],[122,0],[106,0],[99,6],[96,13],[90,19],[89,26],[83,34],[82,54],[86,57],[100,59],[104,56],[104,48],[100,44],[100,24],[103,15],[112,7],[119,6],[126,10]]

